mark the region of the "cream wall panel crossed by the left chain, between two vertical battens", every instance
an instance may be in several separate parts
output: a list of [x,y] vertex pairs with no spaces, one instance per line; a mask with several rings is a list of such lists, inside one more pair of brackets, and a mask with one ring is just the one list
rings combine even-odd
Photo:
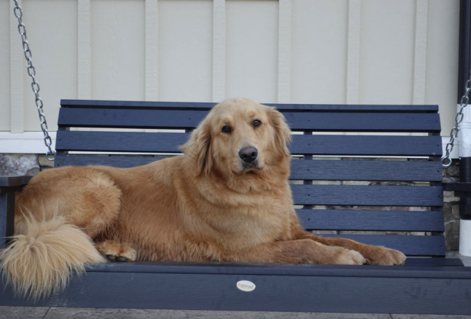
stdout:
[[[77,0],[24,0],[22,8],[49,130],[57,130],[60,99],[77,97]],[[25,131],[37,131],[40,122],[26,62],[24,67]]]

